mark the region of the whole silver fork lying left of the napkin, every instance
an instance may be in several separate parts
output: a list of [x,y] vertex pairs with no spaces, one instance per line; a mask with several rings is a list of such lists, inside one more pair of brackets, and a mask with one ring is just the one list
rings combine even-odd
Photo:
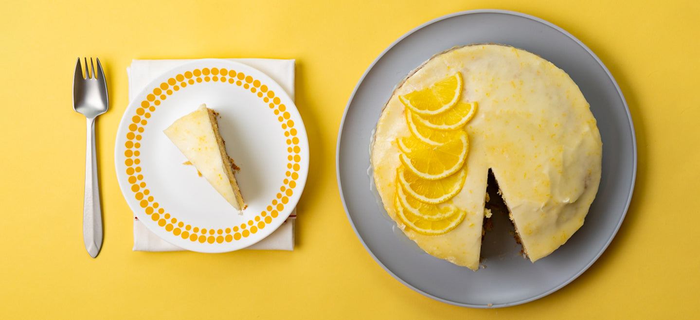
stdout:
[[[97,158],[94,147],[94,118],[105,113],[109,108],[107,83],[104,81],[102,64],[97,60],[97,69],[87,65],[85,58],[85,76],[80,58],[73,72],[73,110],[87,118],[87,151],[85,151],[85,203],[83,204],[83,240],[85,249],[92,258],[102,248],[102,209],[99,202],[99,183],[97,181]],[[92,74],[90,74],[92,67]]]

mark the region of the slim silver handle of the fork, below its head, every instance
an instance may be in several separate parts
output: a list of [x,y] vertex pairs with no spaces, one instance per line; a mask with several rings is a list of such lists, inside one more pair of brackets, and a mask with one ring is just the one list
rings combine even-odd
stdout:
[[102,248],[102,209],[97,182],[97,158],[94,146],[94,118],[87,118],[85,151],[85,204],[83,205],[83,239],[92,258]]

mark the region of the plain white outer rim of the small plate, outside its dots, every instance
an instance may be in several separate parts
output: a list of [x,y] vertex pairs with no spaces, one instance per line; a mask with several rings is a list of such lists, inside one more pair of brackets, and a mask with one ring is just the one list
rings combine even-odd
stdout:
[[[144,94],[148,93],[148,89],[149,89],[149,88],[155,88],[155,86],[158,85],[159,79],[162,80],[162,78],[163,78],[164,76],[167,76],[168,74],[172,73],[174,70],[180,69],[180,68],[182,68],[182,67],[186,67],[186,66],[188,66],[188,65],[190,65],[190,64],[193,65],[193,66],[195,66],[195,65],[197,65],[197,64],[202,64],[202,63],[207,63],[207,62],[211,62],[211,63],[214,63],[214,64],[237,65],[237,66],[242,66],[243,69],[253,69],[253,70],[257,71],[258,73],[260,73],[260,75],[261,75],[260,80],[269,81],[269,83],[274,83],[274,85],[276,85],[277,87],[279,87],[279,90],[276,90],[277,93],[276,93],[275,95],[276,95],[276,96],[281,96],[281,97],[286,97],[286,98],[288,99],[288,101],[291,102],[291,106],[287,106],[287,107],[288,107],[288,108],[293,107],[294,112],[297,114],[297,116],[298,116],[298,118],[299,118],[298,123],[295,123],[295,127],[297,128],[297,132],[299,132],[299,133],[297,134],[297,137],[300,137],[300,138],[303,137],[303,139],[299,139],[299,140],[300,140],[300,141],[299,141],[299,145],[302,146],[303,148],[305,148],[304,150],[306,150],[306,153],[307,153],[307,156],[304,157],[304,158],[299,162],[299,163],[300,163],[300,170],[298,171],[298,173],[299,173],[299,178],[300,178],[300,179],[297,179],[297,180],[296,180],[296,181],[297,181],[297,187],[295,188],[295,189],[298,189],[298,191],[297,191],[298,196],[295,197],[295,200],[290,199],[290,202],[289,202],[290,205],[289,205],[289,204],[286,205],[286,207],[287,207],[287,208],[290,208],[290,209],[286,209],[286,210],[285,210],[285,211],[286,211],[285,214],[282,214],[282,212],[280,212],[278,218],[275,218],[275,220],[274,220],[275,223],[274,223],[274,224],[272,224],[272,223],[268,224],[268,225],[269,225],[269,230],[271,230],[271,231],[269,231],[269,233],[267,233],[267,235],[265,235],[264,237],[255,238],[254,240],[251,240],[251,241],[250,241],[248,244],[246,244],[245,246],[241,246],[241,247],[239,247],[239,248],[237,248],[237,249],[230,249],[230,250],[229,250],[229,249],[226,249],[226,250],[223,250],[223,251],[222,251],[222,250],[200,250],[200,249],[186,248],[186,247],[184,247],[184,246],[181,246],[180,244],[174,244],[174,243],[168,241],[167,238],[161,237],[161,236],[159,235],[159,232],[155,232],[155,231],[151,228],[150,225],[148,225],[147,223],[143,223],[144,226],[145,226],[150,232],[153,232],[154,235],[157,235],[160,239],[162,239],[162,240],[165,241],[165,242],[168,242],[169,244],[172,244],[172,245],[174,245],[174,246],[179,246],[181,249],[183,249],[183,250],[185,250],[185,251],[193,251],[193,252],[200,252],[200,253],[226,253],[226,252],[232,252],[232,251],[238,251],[238,250],[241,250],[241,249],[246,249],[248,246],[252,246],[253,244],[256,244],[256,243],[262,241],[262,239],[265,239],[265,238],[268,237],[269,235],[272,235],[272,233],[273,233],[275,230],[277,230],[277,229],[289,218],[291,212],[297,207],[297,204],[298,204],[299,200],[300,200],[301,197],[302,197],[304,188],[306,187],[306,183],[307,183],[307,179],[308,179],[308,175],[309,175],[309,155],[311,155],[311,152],[309,151],[309,138],[308,138],[308,134],[307,134],[307,131],[306,131],[306,126],[304,125],[304,120],[303,120],[303,118],[302,118],[302,116],[301,116],[301,113],[300,113],[299,110],[297,109],[297,106],[296,106],[296,103],[295,103],[294,99],[292,99],[292,98],[290,97],[290,95],[288,94],[288,92],[286,92],[286,90],[284,90],[284,88],[283,88],[279,83],[277,83],[277,81],[275,81],[272,77],[270,77],[270,76],[268,76],[267,74],[265,74],[265,72],[260,71],[260,69],[257,69],[257,68],[255,68],[255,67],[249,66],[248,64],[244,64],[244,63],[242,63],[242,62],[237,62],[237,61],[228,60],[228,59],[221,59],[221,58],[188,59],[187,61],[185,61],[185,62],[183,62],[183,63],[181,63],[181,64],[174,65],[173,67],[170,67],[170,68],[168,68],[167,70],[165,70],[165,71],[161,72],[160,74],[158,74],[157,76],[154,76],[153,78],[151,78],[151,80],[148,81],[148,83],[144,86],[144,88],[142,88],[139,92],[137,92],[137,94],[135,94],[135,95],[132,96],[134,99],[130,100],[129,104],[127,104],[126,108],[125,108],[124,111],[123,111],[122,117],[120,118],[120,121],[119,121],[119,123],[118,123],[118,127],[117,127],[117,134],[116,134],[116,138],[115,138],[115,141],[116,141],[116,142],[115,142],[115,146],[114,146],[114,161],[115,161],[115,171],[116,171],[117,183],[118,183],[119,189],[120,189],[120,191],[121,191],[121,193],[122,193],[122,195],[123,195],[123,197],[124,197],[125,202],[127,202],[127,207],[129,207],[129,209],[130,209],[130,211],[131,211],[131,214],[132,214],[133,216],[137,216],[137,214],[136,214],[137,211],[135,211],[134,208],[132,207],[132,204],[131,204],[130,200],[127,200],[127,195],[125,194],[125,190],[124,190],[124,188],[122,188],[122,184],[123,184],[123,180],[124,180],[123,178],[124,178],[124,177],[123,177],[123,176],[120,176],[120,169],[122,169],[122,167],[120,166],[120,155],[122,155],[122,154],[120,153],[120,146],[123,145],[123,144],[120,144],[120,142],[123,142],[123,139],[120,139],[120,137],[122,137],[122,136],[124,135],[124,133],[125,133],[125,132],[124,132],[125,127],[123,126],[123,123],[124,123],[125,121],[128,122],[128,121],[127,121],[127,120],[128,120],[128,119],[127,119],[127,113],[128,113],[131,109],[137,108],[137,106],[136,106],[137,100],[138,100],[137,97],[140,97],[141,95],[144,95]],[[193,68],[197,68],[197,67],[193,67]],[[280,94],[279,92],[282,92],[282,93]],[[288,110],[290,110],[290,109],[288,109]],[[297,193],[295,193],[295,195],[296,195]],[[141,219],[139,219],[139,220],[141,220]],[[277,223],[277,221],[279,221],[279,223]],[[211,248],[217,248],[217,247],[221,247],[221,246],[211,246]]]

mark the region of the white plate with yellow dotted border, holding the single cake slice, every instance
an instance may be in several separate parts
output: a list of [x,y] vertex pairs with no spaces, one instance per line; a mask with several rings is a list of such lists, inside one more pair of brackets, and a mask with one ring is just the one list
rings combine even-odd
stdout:
[[[242,215],[183,165],[187,158],[162,132],[200,104],[220,114],[226,150],[241,168]],[[237,62],[195,60],[134,97],[115,160],[122,193],[146,228],[184,249],[227,252],[255,244],[289,216],[306,183],[309,143],[294,102],[272,78]]]

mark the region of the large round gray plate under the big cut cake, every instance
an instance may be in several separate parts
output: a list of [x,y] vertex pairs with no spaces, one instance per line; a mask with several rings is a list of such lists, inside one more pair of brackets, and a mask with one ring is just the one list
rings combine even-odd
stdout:
[[[528,50],[566,71],[579,85],[603,139],[603,177],[586,222],[566,244],[530,263],[518,255],[497,216],[473,272],[424,253],[397,232],[370,190],[368,147],[381,108],[409,71],[435,53],[470,43]],[[435,300],[464,307],[506,307],[556,291],[584,272],[610,244],[629,206],[637,167],[626,102],[603,62],[563,29],[522,13],[465,11],[427,22],[384,50],[360,78],[345,109],[337,143],[337,178],[349,221],[367,252],[393,277]],[[500,218],[500,219],[499,219]]]

